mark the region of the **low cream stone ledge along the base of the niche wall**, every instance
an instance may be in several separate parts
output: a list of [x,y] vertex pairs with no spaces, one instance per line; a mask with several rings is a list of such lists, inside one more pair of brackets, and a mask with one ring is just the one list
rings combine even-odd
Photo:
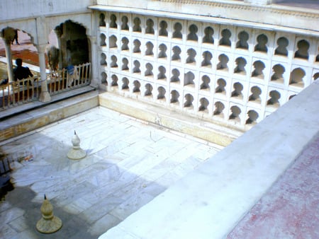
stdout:
[[220,146],[227,146],[242,134],[241,131],[235,129],[229,129],[211,122],[205,122],[201,119],[181,115],[164,107],[141,103],[114,93],[106,92],[100,94],[99,104],[125,115],[167,127],[177,132],[189,134]]

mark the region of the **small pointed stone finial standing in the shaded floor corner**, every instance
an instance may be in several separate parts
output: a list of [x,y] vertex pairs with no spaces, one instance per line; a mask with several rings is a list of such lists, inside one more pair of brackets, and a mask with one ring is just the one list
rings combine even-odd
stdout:
[[43,204],[41,206],[42,218],[38,221],[36,228],[40,233],[55,233],[62,227],[62,221],[53,214],[53,206],[44,197]]

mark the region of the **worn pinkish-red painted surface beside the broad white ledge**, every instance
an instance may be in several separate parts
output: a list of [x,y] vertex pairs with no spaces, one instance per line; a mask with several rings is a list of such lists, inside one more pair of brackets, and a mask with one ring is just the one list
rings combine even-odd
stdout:
[[319,136],[227,238],[319,238]]

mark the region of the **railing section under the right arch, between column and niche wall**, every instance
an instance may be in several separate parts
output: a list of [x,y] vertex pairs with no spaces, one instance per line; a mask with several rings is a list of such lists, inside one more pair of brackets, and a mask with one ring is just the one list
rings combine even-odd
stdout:
[[74,66],[72,75],[68,73],[67,69],[47,74],[47,87],[50,95],[89,85],[91,83],[90,66],[90,63]]

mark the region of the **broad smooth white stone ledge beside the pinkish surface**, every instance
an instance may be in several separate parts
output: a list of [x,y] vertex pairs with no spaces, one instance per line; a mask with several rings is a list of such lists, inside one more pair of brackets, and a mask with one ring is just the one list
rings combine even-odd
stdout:
[[318,136],[319,81],[159,194],[107,238],[226,238]]

